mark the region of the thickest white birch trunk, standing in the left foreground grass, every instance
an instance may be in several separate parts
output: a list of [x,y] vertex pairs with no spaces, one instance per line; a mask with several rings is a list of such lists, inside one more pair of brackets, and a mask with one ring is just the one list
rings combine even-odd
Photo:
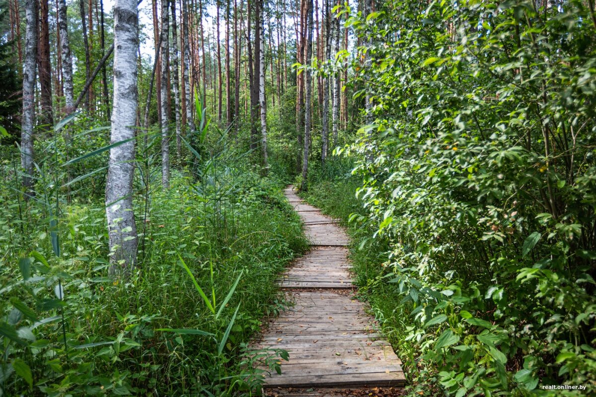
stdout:
[[105,185],[105,212],[111,252],[111,273],[130,273],[136,262],[138,240],[132,207],[135,173],[137,108],[136,52],[138,49],[136,0],[114,4],[114,111],[110,143],[129,140],[110,149]]

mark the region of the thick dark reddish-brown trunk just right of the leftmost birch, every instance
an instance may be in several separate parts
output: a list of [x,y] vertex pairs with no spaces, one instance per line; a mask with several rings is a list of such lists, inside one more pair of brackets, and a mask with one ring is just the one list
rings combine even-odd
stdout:
[[48,0],[40,0],[39,5],[41,23],[39,24],[38,74],[41,123],[46,125],[46,129],[51,129],[54,125],[54,117],[52,116],[52,68],[49,61]]

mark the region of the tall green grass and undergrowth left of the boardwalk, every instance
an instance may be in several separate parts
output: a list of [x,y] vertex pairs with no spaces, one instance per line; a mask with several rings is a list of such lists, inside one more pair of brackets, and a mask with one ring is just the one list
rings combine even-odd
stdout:
[[[73,141],[90,141],[76,147],[58,128],[38,140],[45,157],[36,163],[36,194],[28,201],[17,151],[1,164],[0,199],[7,205],[0,210],[0,390],[49,396],[260,390],[263,370],[252,364],[278,371],[287,352],[249,351],[246,343],[263,315],[280,310],[278,273],[308,246],[283,198],[284,184],[274,173],[261,177],[226,132],[212,128],[203,133],[198,161],[173,171],[163,190],[153,162],[159,135],[150,133],[139,145],[135,176],[138,267],[114,280],[103,198],[88,186],[95,171],[105,170],[110,145],[104,129],[80,131],[86,123],[79,115],[67,126]],[[145,142],[144,135],[138,139]]]

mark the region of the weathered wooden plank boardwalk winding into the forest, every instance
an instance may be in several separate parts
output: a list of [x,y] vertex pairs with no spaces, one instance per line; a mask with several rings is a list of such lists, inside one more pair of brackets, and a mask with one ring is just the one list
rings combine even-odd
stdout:
[[302,217],[313,249],[280,279],[294,305],[252,344],[290,354],[289,361],[281,362],[281,375],[266,377],[265,389],[403,385],[401,361],[377,333],[365,305],[353,296],[346,233],[337,221],[301,201],[291,187],[285,196]]

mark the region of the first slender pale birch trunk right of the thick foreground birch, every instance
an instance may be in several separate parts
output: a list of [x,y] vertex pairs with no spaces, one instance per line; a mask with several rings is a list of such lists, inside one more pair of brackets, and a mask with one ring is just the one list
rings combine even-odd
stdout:
[[[168,0],[162,0],[162,48],[160,49],[162,57],[162,66],[167,65],[167,46],[169,45],[169,7]],[[162,84],[160,96],[162,97],[162,185],[166,189],[170,187],[170,137],[167,117],[167,86],[168,78],[166,70],[162,70]]]

